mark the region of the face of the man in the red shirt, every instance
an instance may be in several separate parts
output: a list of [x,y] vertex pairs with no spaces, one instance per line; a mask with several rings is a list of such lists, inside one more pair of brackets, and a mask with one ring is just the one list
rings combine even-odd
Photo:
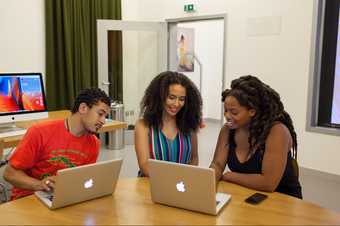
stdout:
[[81,103],[79,112],[82,115],[84,129],[90,133],[97,133],[104,125],[105,118],[110,112],[110,107],[101,101],[94,104],[91,108],[85,103]]

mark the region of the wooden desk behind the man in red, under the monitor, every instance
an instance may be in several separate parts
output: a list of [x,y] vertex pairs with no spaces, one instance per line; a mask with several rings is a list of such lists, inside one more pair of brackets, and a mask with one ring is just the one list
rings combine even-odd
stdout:
[[[17,122],[16,126],[20,127],[20,128],[27,129],[30,126],[32,126],[36,123],[39,123],[39,122],[55,120],[55,119],[64,119],[67,116],[69,116],[70,114],[71,114],[71,112],[68,111],[68,110],[50,111],[50,112],[48,112],[48,118],[39,119],[39,120],[32,120],[32,121]],[[100,130],[98,132],[99,133],[110,132],[110,131],[113,131],[115,129],[121,129],[121,128],[126,128],[126,127],[127,127],[126,122],[110,121],[110,122],[106,122],[104,124],[104,126],[102,128],[100,128]],[[2,158],[4,148],[15,147],[20,142],[20,140],[22,139],[23,136],[24,135],[0,138],[0,159]]]

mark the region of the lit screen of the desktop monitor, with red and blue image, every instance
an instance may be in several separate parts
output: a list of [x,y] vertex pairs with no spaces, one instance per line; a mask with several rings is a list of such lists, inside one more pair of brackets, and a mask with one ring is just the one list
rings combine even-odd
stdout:
[[0,114],[46,110],[41,74],[0,75]]

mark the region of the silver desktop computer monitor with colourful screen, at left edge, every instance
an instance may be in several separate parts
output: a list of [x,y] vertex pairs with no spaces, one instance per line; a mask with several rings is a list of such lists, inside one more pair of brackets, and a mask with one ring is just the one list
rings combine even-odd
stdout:
[[0,73],[0,132],[15,122],[47,118],[41,73]]

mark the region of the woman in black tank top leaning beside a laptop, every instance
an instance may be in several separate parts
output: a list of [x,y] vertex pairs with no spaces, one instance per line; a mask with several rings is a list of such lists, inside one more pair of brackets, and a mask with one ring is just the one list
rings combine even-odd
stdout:
[[296,133],[279,94],[248,75],[231,82],[222,102],[226,124],[210,165],[216,181],[302,198]]

